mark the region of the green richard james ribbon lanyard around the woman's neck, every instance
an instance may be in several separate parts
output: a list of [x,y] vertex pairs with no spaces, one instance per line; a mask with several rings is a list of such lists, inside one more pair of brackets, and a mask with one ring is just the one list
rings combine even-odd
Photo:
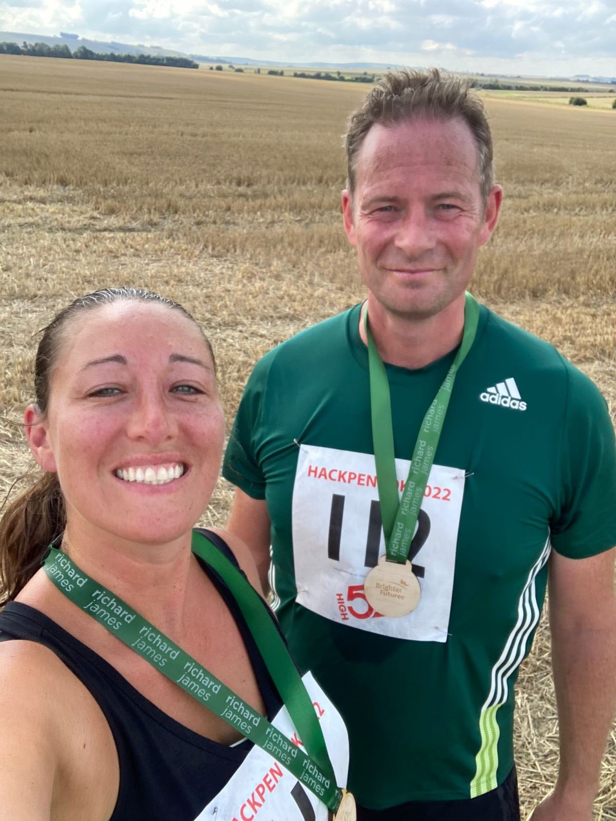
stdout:
[[246,704],[233,690],[212,676],[202,664],[185,653],[149,621],[130,608],[103,585],[86,576],[61,550],[50,547],[43,567],[53,584],[99,624],[135,650],[163,676],[174,681],[231,727],[266,750],[332,811],[336,812],[342,791],[336,786],[334,768],[312,699],[290,658],[281,634],[267,613],[262,599],[242,573],[212,542],[194,532],[196,553],[230,589],[244,616],[255,644],[262,654],[276,689],[289,711],[306,750],[303,752],[267,718]]

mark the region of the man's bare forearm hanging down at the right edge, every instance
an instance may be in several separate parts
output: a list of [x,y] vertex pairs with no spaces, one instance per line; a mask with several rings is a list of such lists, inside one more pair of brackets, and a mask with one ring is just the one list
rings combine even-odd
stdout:
[[554,792],[532,821],[591,821],[616,705],[614,549],[550,558],[552,666],[560,765]]

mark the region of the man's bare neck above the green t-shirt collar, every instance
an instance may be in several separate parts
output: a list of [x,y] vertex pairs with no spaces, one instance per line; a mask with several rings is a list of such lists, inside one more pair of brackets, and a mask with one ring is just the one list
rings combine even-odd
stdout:
[[391,314],[368,291],[359,316],[359,335],[367,345],[363,328],[366,309],[376,349],[381,359],[390,365],[410,370],[423,368],[453,351],[462,340],[464,294],[438,314],[417,319]]

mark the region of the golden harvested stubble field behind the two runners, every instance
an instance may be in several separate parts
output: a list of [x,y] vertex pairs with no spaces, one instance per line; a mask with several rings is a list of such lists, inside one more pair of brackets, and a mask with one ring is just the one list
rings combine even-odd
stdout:
[[[255,360],[363,296],[340,135],[366,86],[0,56],[0,491],[27,479],[35,332],[129,284],[203,323],[230,424]],[[616,112],[487,99],[504,209],[473,291],[554,342],[616,410]],[[225,521],[222,480],[205,521]],[[518,687],[524,810],[557,766],[545,620]],[[616,821],[616,734],[596,818]]]

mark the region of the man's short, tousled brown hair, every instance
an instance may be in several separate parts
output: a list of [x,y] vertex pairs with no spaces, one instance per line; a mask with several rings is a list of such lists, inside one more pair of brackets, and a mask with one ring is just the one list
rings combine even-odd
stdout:
[[438,120],[463,119],[477,144],[477,176],[481,197],[486,202],[494,183],[492,135],[481,99],[472,92],[471,80],[428,71],[387,71],[363,103],[349,117],[345,135],[348,180],[355,187],[355,167],[367,132],[372,126],[395,126],[416,116]]

